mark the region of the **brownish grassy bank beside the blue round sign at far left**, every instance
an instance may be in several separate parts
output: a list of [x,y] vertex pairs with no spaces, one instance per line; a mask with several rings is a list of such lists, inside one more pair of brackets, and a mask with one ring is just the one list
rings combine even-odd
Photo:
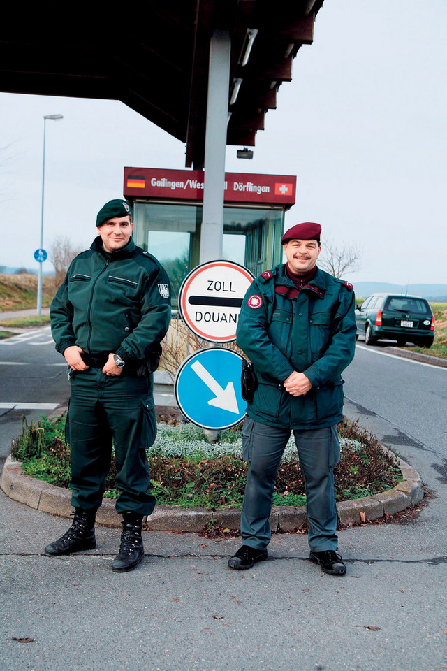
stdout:
[[[0,312],[35,308],[37,302],[37,275],[0,275]],[[42,278],[42,305],[47,307],[54,296],[54,277]]]

